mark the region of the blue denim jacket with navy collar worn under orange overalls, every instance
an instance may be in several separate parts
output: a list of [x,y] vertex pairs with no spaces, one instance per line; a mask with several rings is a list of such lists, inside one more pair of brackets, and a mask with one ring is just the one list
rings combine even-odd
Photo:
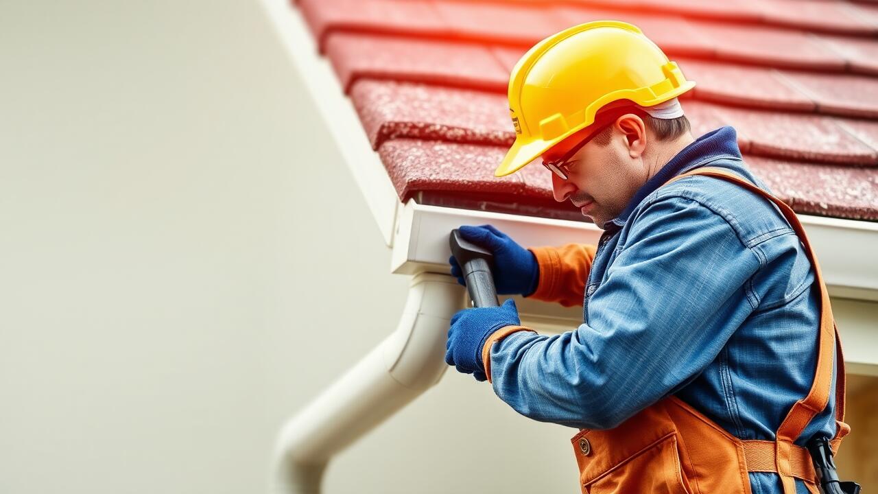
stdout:
[[[814,377],[819,288],[798,237],[767,200],[709,177],[662,186],[705,165],[767,190],[732,127],[680,151],[605,225],[583,323],[493,345],[500,399],[536,420],[608,429],[676,395],[742,440],[774,440]],[[831,396],[796,444],[833,436],[834,410]],[[754,494],[782,492],[776,474],[750,477]],[[797,491],[807,492],[801,481]]]

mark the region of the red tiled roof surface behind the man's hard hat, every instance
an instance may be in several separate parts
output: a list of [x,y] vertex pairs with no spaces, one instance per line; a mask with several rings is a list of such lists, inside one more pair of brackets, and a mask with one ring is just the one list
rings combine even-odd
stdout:
[[399,198],[582,220],[543,167],[493,170],[515,140],[506,91],[537,41],[631,22],[697,85],[700,135],[738,130],[802,214],[878,221],[878,4],[842,0],[301,0]]

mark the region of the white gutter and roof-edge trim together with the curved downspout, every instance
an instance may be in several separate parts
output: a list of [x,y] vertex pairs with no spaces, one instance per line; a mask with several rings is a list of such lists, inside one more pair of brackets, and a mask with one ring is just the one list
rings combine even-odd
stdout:
[[[270,21],[303,76],[327,132],[363,192],[385,243],[392,272],[414,274],[395,332],[284,425],[271,467],[271,492],[317,494],[334,454],[363,436],[438,381],[451,314],[464,306],[462,287],[448,276],[448,235],[462,224],[490,222],[525,245],[595,243],[600,230],[568,222],[449,207],[403,205],[329,62],[321,58],[298,10],[288,0],[262,0]],[[878,375],[878,224],[800,215],[834,297],[850,372]],[[569,331],[581,309],[524,300],[522,323]],[[850,344],[853,342],[853,346]]]

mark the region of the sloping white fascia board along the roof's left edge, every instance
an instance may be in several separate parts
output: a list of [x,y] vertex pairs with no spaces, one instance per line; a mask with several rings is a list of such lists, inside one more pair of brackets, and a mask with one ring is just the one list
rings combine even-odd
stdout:
[[[354,105],[344,94],[329,61],[321,57],[316,42],[299,9],[289,0],[262,0],[277,35],[290,54],[307,90],[317,105],[323,125],[332,135],[335,147],[359,186],[367,205],[378,223],[387,245],[392,245],[393,223],[399,197],[384,163],[372,149],[369,137],[356,114]],[[296,142],[294,145],[304,145]]]

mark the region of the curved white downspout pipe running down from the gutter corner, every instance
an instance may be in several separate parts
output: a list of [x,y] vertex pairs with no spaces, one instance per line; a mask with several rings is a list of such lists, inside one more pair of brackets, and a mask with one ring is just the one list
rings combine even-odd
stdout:
[[438,382],[451,315],[464,287],[448,275],[416,274],[399,323],[363,360],[281,430],[272,455],[272,494],[319,494],[334,454]]

